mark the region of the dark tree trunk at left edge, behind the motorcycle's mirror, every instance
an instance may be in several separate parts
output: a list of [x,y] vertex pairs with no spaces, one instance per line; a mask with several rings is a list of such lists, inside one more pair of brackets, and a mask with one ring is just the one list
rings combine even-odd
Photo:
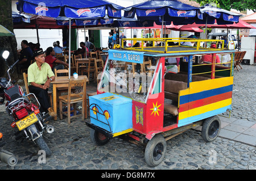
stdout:
[[[0,24],[6,27],[11,32],[13,31],[13,18],[11,16],[11,1],[10,0],[1,0],[0,1]],[[3,60],[2,53],[4,50],[10,52],[7,62]],[[18,60],[17,54],[17,41],[15,36],[0,36],[0,77],[6,77],[6,65],[12,65],[16,60]],[[16,68],[15,68],[16,70]],[[18,71],[14,71],[11,76],[14,79],[18,78]],[[16,80],[18,81],[18,80]]]

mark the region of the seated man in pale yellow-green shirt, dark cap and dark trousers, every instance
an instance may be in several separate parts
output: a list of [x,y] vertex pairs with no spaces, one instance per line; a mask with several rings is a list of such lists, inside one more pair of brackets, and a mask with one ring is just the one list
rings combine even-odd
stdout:
[[28,89],[36,95],[40,103],[40,111],[47,112],[50,116],[55,117],[49,103],[48,88],[55,79],[51,66],[45,62],[43,49],[40,48],[34,52],[35,62],[28,67]]

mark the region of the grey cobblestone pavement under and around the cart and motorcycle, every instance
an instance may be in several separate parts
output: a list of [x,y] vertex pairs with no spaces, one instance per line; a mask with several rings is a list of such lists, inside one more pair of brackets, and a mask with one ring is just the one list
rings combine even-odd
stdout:
[[[233,111],[237,119],[256,123],[256,66],[242,65],[234,71]],[[91,89],[91,90],[90,90]],[[93,88],[88,86],[88,91]],[[38,146],[30,141],[15,141],[16,129],[6,112],[0,112],[0,131],[6,145],[3,149],[14,153],[18,163],[14,167],[0,163],[1,170],[255,170],[255,145],[244,144],[224,137],[205,142],[201,132],[188,130],[167,141],[167,152],[162,163],[149,167],[144,161],[144,146],[115,137],[104,146],[96,146],[90,139],[90,129],[79,119],[50,121],[53,134],[45,138],[52,155],[46,163],[39,163]]]

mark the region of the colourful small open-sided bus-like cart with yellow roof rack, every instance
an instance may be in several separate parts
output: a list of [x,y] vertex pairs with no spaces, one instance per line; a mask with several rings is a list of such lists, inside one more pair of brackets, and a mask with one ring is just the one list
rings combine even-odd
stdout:
[[[166,141],[187,129],[201,125],[204,140],[215,140],[217,115],[231,111],[234,50],[200,47],[216,40],[134,40],[142,46],[108,50],[97,95],[89,96],[92,140],[104,145],[123,134],[134,138],[146,144],[150,166],[162,162]],[[163,45],[144,47],[144,41]],[[197,45],[180,44],[185,41]]]

